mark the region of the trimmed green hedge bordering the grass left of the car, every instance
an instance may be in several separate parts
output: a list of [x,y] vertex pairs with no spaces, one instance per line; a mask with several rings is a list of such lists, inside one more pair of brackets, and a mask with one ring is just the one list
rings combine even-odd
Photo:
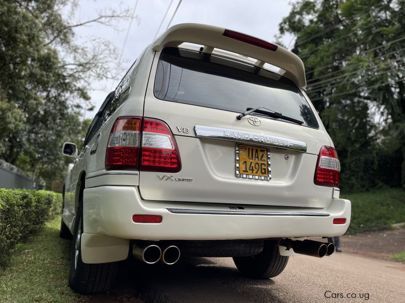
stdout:
[[61,205],[60,193],[0,188],[0,266],[15,245],[41,229]]

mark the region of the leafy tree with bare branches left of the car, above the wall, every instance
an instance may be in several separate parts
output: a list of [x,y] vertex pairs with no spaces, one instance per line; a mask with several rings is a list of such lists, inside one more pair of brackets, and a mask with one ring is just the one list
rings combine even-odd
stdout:
[[62,178],[63,141],[83,137],[78,108],[89,101],[91,82],[117,71],[110,63],[116,48],[99,39],[77,45],[74,28],[132,18],[128,9],[110,9],[72,23],[60,14],[67,6],[74,12],[77,3],[3,0],[0,6],[0,159],[47,180]]

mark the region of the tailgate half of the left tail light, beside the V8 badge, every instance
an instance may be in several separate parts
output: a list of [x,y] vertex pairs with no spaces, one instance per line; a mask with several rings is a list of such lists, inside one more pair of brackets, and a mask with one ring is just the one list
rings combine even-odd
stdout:
[[169,126],[160,120],[145,118],[142,132],[141,170],[179,172],[180,155]]

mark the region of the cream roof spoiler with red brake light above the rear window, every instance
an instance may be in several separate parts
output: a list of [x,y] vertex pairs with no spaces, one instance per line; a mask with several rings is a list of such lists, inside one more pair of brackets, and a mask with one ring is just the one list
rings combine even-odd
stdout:
[[297,55],[276,44],[222,27],[196,23],[177,24],[161,35],[153,43],[152,49],[161,51],[165,46],[177,47],[183,42],[204,45],[203,52],[207,53],[212,53],[214,48],[220,48],[254,58],[258,67],[269,63],[285,70],[283,76],[292,80],[298,87],[306,87],[304,64]]

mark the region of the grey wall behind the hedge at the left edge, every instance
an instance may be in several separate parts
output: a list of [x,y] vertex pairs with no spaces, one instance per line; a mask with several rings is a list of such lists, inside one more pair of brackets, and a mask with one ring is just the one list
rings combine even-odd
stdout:
[[34,188],[34,181],[23,175],[17,167],[0,160],[0,188]]

